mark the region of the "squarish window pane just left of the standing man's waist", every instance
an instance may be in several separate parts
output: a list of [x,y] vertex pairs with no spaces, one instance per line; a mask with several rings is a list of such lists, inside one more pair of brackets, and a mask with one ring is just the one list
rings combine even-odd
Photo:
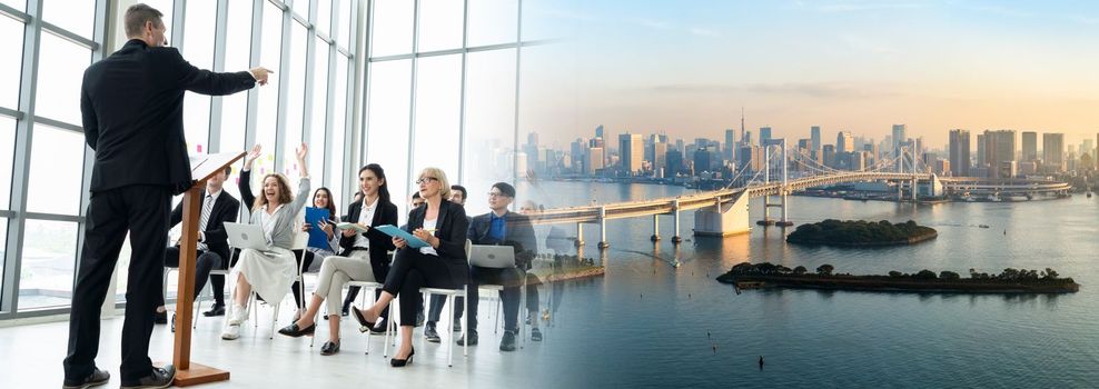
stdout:
[[79,215],[83,134],[42,123],[32,133],[27,211]]

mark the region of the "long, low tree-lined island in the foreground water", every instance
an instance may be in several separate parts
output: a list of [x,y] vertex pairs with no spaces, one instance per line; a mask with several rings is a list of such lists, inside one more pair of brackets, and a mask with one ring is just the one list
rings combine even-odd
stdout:
[[739,289],[796,288],[888,292],[941,292],[941,293],[1071,293],[1080,291],[1072,278],[1061,278],[1056,270],[1003,269],[999,275],[969,269],[969,278],[953,271],[935,273],[920,270],[909,275],[890,271],[885,276],[833,275],[835,268],[821,265],[815,273],[803,266],[790,269],[770,262],[742,262],[729,272],[717,276],[717,281],[735,285]]

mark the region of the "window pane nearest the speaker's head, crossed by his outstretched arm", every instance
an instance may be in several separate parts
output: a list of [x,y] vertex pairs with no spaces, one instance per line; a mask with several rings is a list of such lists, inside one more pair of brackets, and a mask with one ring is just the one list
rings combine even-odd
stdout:
[[[199,69],[214,68],[216,1],[188,1],[184,18],[184,58]],[[184,97],[184,132],[191,156],[209,152],[210,97],[187,92]]]

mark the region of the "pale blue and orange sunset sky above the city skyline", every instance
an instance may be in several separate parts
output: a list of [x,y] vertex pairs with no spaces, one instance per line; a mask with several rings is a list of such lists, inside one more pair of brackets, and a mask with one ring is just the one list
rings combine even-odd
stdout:
[[821,124],[880,139],[894,122],[935,143],[951,128],[1099,132],[1099,2],[532,3],[573,58],[525,73],[545,86],[524,92],[556,96],[526,122],[562,141],[598,123],[716,138],[741,106],[750,130],[793,138]]

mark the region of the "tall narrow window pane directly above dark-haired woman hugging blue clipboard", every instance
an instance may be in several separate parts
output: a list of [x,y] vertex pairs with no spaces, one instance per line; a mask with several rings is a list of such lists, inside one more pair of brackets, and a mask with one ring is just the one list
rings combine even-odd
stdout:
[[[325,156],[330,156],[330,147],[325,141],[325,129],[328,116],[328,46],[324,39],[314,38],[313,57],[313,114],[309,122],[309,176],[314,186],[327,186],[335,189],[335,182],[325,179]],[[334,179],[335,180],[335,179]],[[323,182],[323,183],[321,183]]]

